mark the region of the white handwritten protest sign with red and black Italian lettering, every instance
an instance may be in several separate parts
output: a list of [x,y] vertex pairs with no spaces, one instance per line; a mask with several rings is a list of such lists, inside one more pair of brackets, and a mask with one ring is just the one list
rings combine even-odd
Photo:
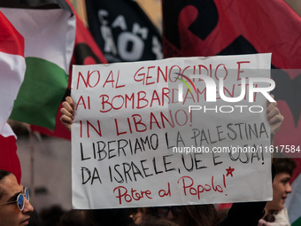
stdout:
[[73,66],[73,207],[271,199],[270,128],[258,89],[270,86],[259,82],[269,79],[270,60]]

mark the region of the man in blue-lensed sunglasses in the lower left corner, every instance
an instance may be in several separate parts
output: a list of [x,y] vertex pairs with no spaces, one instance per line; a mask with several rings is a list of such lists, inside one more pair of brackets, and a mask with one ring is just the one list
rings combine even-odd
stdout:
[[27,225],[34,211],[29,192],[12,173],[0,169],[0,226]]

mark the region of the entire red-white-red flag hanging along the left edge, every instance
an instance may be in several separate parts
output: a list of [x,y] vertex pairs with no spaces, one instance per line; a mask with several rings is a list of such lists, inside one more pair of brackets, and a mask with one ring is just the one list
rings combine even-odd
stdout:
[[0,168],[16,175],[21,181],[21,167],[17,155],[17,136],[6,123],[13,101],[24,79],[24,38],[0,12]]

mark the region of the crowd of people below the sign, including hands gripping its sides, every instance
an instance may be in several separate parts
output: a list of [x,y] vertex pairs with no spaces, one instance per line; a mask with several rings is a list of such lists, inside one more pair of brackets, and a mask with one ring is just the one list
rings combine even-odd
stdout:
[[[71,130],[73,100],[66,97],[61,109],[61,121]],[[267,121],[271,125],[272,142],[283,121],[276,103],[267,105]],[[297,164],[290,158],[274,158],[272,165],[273,200],[233,203],[230,208],[219,205],[188,205],[174,207],[137,207],[64,211],[52,207],[37,213],[29,202],[29,191],[17,182],[15,175],[0,169],[0,226],[57,225],[170,225],[170,226],[226,226],[226,225],[290,225],[284,201],[291,192],[289,178]]]

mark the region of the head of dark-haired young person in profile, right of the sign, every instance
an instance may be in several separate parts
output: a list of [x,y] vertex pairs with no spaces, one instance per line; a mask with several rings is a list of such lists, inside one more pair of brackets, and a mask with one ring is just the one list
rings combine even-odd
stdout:
[[273,181],[273,200],[266,203],[266,212],[282,210],[284,201],[291,192],[289,179],[297,168],[296,161],[289,158],[274,159],[273,164],[277,170]]

